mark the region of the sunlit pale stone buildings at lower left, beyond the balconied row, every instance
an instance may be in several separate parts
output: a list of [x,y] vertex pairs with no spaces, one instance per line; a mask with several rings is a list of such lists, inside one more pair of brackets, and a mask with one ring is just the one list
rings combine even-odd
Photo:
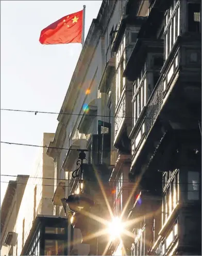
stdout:
[[[1,255],[28,255],[22,252],[25,244],[31,243],[35,219],[38,215],[53,216],[54,164],[43,148],[53,138],[52,133],[43,134],[42,148],[30,176],[18,175],[16,181],[8,184],[1,207]],[[38,248],[35,243],[30,254],[46,255],[40,250],[41,244]]]

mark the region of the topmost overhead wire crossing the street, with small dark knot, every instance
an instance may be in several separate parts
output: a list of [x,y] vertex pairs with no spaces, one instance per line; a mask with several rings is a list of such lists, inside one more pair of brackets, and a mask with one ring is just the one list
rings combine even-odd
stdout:
[[[38,111],[38,110],[24,110],[24,109],[9,109],[9,108],[1,108],[1,110],[4,111],[15,111],[15,112],[25,112],[25,113],[34,113],[35,115],[39,114],[55,114],[55,115],[70,115],[70,116],[83,116],[83,114],[75,114],[75,113],[65,113],[65,112],[48,112],[48,111]],[[137,120],[144,120],[144,119],[148,119],[148,120],[156,120],[157,118],[148,118],[148,117],[127,117],[127,116],[103,116],[103,115],[88,115],[90,117],[109,117],[109,118],[126,118],[126,119],[137,119]],[[163,120],[162,118],[160,118],[161,120]],[[185,118],[183,117],[183,119],[191,119],[191,120],[196,120],[196,121],[200,121],[198,118]],[[178,118],[179,120],[179,118]]]

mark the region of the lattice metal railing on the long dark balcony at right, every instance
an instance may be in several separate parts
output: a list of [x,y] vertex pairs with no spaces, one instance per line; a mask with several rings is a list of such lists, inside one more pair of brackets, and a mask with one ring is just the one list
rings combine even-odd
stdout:
[[150,96],[145,115],[145,133],[148,135],[151,127],[159,115],[163,104],[163,81],[159,79],[156,88]]

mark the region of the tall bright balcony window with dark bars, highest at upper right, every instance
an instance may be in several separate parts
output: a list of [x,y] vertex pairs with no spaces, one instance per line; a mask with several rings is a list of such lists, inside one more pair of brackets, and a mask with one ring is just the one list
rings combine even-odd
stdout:
[[173,7],[165,12],[164,16],[164,42],[165,42],[165,59],[171,52],[171,49],[180,35],[180,9],[179,1],[174,2]]

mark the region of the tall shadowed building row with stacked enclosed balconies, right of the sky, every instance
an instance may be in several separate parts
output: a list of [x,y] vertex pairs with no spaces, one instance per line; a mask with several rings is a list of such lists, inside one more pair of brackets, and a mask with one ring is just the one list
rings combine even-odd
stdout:
[[[68,255],[200,255],[200,18],[197,0],[103,1],[47,150],[54,214],[69,218]],[[99,205],[86,221],[61,200],[81,190]],[[90,237],[102,227],[93,216],[110,221],[108,208],[129,225],[107,246]]]

